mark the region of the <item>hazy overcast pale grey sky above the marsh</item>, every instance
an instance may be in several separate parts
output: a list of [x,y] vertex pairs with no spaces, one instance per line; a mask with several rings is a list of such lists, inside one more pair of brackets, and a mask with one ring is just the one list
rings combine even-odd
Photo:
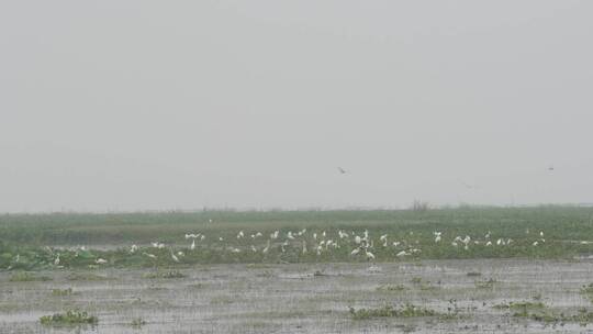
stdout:
[[593,202],[592,18],[2,1],[0,212]]

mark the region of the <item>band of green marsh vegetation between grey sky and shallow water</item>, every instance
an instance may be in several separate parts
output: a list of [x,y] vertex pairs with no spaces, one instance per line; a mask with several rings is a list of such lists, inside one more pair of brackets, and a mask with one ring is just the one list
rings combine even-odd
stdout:
[[2,215],[0,268],[561,258],[593,253],[592,216],[572,207]]

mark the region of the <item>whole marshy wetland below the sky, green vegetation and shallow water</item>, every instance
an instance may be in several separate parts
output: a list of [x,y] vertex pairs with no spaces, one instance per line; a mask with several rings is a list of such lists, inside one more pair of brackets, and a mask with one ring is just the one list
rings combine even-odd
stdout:
[[0,218],[0,333],[593,331],[593,209]]

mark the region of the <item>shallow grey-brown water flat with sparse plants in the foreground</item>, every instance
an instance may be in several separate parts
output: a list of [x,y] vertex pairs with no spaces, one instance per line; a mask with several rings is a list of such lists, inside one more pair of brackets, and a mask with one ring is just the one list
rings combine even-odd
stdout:
[[[49,270],[34,272],[40,281],[11,275],[0,272],[0,333],[593,333],[593,324],[568,316],[593,310],[582,291],[593,282],[586,259]],[[434,314],[356,313],[405,305]],[[532,305],[551,319],[535,316]],[[99,322],[40,322],[67,310]]]

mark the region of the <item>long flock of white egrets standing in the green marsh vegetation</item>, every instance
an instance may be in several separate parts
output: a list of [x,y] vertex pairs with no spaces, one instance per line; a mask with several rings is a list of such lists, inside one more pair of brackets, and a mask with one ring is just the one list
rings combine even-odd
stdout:
[[[144,246],[134,244],[130,248],[120,248],[118,254],[146,257],[155,265],[167,261],[194,263],[195,258],[202,255],[208,258],[209,255],[213,254],[223,256],[226,259],[228,259],[227,255],[231,255],[231,258],[237,257],[236,260],[238,260],[238,257],[243,257],[243,260],[257,260],[253,255],[259,255],[264,259],[268,255],[271,256],[269,259],[277,256],[277,259],[282,260],[284,253],[287,253],[287,256],[298,255],[298,258],[303,256],[309,260],[323,255],[324,257],[318,260],[346,260],[346,257],[350,257],[351,259],[359,258],[373,261],[377,255],[382,260],[406,257],[417,258],[423,253],[423,248],[429,256],[430,252],[435,252],[435,249],[446,252],[449,248],[450,252],[452,248],[459,249],[456,252],[463,253],[470,250],[470,248],[483,249],[491,247],[503,249],[503,247],[515,244],[525,249],[525,247],[538,247],[546,243],[542,231],[530,234],[529,230],[525,231],[525,236],[519,237],[518,242],[510,237],[493,237],[490,231],[479,235],[473,233],[473,236],[469,234],[456,235],[443,231],[428,232],[428,235],[427,232],[416,232],[414,234],[413,231],[410,231],[400,233],[396,236],[380,233],[374,233],[371,236],[368,230],[357,233],[342,229],[325,231],[307,231],[307,229],[298,231],[277,230],[269,234],[257,231],[246,233],[240,230],[235,233],[226,232],[224,236],[214,233],[208,235],[198,232],[186,233],[179,242],[165,244],[160,241],[154,241]],[[421,234],[423,234],[423,237],[421,237]],[[87,260],[86,263],[90,260],[94,266],[107,265],[115,260],[109,252],[91,252],[86,246],[69,249],[45,247],[45,249],[48,255],[45,263],[56,267],[71,264],[72,256],[74,258],[83,258]],[[188,258],[188,256],[192,256],[193,259]],[[16,254],[9,268],[14,268],[25,261],[24,257]]]

